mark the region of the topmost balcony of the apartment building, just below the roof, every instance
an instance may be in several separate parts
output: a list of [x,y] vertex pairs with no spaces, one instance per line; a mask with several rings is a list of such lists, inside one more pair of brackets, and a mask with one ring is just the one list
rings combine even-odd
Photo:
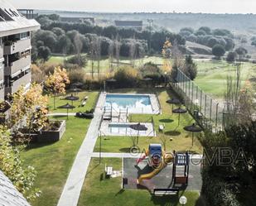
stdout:
[[30,50],[31,49],[31,39],[9,41],[5,44],[3,53],[4,55],[12,55],[14,53]]

